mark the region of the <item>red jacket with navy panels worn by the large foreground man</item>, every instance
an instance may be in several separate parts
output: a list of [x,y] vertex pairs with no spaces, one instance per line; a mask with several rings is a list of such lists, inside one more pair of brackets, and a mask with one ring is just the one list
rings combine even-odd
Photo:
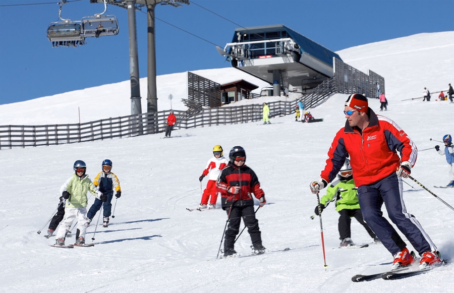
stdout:
[[392,120],[376,115],[370,108],[368,115],[369,125],[362,134],[358,127],[350,127],[348,121],[337,132],[320,175],[322,179],[334,180],[349,155],[356,186],[369,185],[387,177],[399,168],[400,162],[409,161],[415,165],[418,150],[408,135]]

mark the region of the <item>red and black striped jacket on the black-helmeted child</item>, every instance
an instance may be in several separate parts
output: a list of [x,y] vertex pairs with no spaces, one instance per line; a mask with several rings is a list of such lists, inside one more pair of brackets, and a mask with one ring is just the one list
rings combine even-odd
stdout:
[[[240,186],[237,194],[229,193],[231,186]],[[217,191],[221,194],[222,208],[233,206],[253,206],[252,194],[258,199],[265,195],[260,188],[260,182],[255,172],[246,165],[235,166],[232,162],[222,169],[216,183]]]

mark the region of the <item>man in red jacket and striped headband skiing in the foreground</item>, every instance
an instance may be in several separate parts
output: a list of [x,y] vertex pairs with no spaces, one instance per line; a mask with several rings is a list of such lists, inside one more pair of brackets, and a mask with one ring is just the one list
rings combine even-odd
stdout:
[[407,244],[382,216],[383,203],[391,221],[421,255],[420,268],[440,263],[436,246],[404,204],[402,178],[409,177],[416,162],[415,143],[393,121],[375,114],[363,95],[350,95],[344,113],[345,127],[337,132],[331,144],[320,181],[310,184],[312,193],[318,193],[334,180],[350,156],[364,220],[393,255],[392,269],[410,265],[415,260]]

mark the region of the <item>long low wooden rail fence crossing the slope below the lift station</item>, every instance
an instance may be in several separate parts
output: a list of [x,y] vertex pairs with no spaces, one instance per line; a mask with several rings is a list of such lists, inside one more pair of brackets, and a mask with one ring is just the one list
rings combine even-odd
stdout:
[[[277,101],[270,102],[268,105],[270,117],[276,117],[291,114],[296,101]],[[174,111],[177,116],[175,129],[252,123],[262,120],[260,104]],[[161,133],[165,131],[168,114],[169,111],[165,110],[81,124],[0,126],[0,150]]]

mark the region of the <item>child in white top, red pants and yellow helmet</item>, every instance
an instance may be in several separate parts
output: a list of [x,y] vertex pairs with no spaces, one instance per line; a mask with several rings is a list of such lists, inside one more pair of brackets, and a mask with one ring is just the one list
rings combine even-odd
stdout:
[[202,194],[202,200],[197,207],[197,209],[206,209],[208,204],[208,199],[210,198],[210,204],[208,205],[208,209],[215,209],[216,208],[216,201],[217,201],[217,188],[216,188],[216,181],[219,177],[220,171],[225,168],[225,166],[229,163],[229,161],[223,157],[223,149],[220,145],[215,145],[213,147],[213,156],[214,158],[210,158],[206,163],[206,167],[202,172],[202,175],[199,177],[199,181],[202,182],[203,178],[208,175],[209,173],[209,180],[206,184],[206,188]]

